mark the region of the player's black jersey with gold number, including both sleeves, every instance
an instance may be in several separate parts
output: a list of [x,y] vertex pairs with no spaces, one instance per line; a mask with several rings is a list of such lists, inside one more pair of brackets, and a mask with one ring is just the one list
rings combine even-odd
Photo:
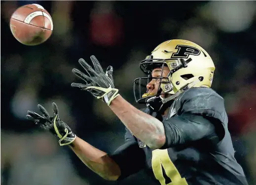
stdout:
[[161,121],[166,135],[161,149],[150,149],[126,129],[125,144],[111,155],[120,166],[119,179],[144,168],[159,185],[247,185],[234,158],[224,100],[218,93],[191,88],[175,99]]

